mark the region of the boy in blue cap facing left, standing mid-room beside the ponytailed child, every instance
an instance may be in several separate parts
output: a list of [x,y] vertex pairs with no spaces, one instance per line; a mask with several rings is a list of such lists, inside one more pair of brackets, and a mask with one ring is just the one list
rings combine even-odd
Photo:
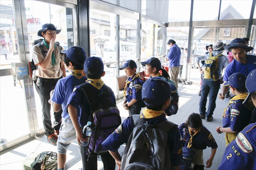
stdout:
[[140,74],[136,74],[137,64],[134,60],[127,60],[119,70],[125,70],[128,76],[125,84],[124,96],[125,101],[123,107],[129,111],[129,116],[133,114],[140,114],[141,111],[141,88],[144,83],[140,79]]

